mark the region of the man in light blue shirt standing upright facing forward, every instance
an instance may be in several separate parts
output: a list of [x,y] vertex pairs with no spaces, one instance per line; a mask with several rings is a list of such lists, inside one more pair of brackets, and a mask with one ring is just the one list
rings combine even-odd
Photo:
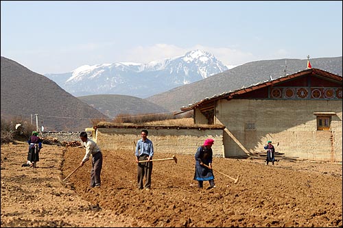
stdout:
[[[143,177],[145,177],[145,190],[151,188],[151,175],[152,175],[152,156],[154,156],[154,145],[152,141],[147,138],[147,130],[141,131],[141,139],[138,140],[136,146],[136,163],[137,166],[137,184],[139,189],[143,189]],[[139,162],[147,160],[147,162]]]

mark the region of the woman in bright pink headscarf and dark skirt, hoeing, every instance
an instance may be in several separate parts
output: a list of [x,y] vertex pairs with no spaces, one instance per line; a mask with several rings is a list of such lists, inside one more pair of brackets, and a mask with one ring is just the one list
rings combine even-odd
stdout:
[[[198,181],[198,187],[202,188],[204,181],[209,181],[210,187],[215,188],[214,175],[212,170],[212,145],[214,140],[208,138],[204,141],[204,144],[201,147],[198,147],[196,151],[196,173],[194,174],[194,179]],[[210,168],[203,166],[206,164]]]

